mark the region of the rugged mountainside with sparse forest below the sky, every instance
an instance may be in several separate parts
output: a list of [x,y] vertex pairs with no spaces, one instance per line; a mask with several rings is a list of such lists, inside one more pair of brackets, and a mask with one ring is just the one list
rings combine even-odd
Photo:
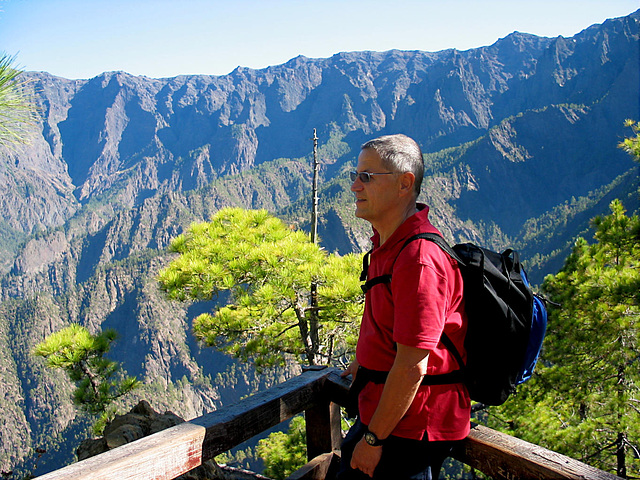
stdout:
[[613,198],[639,207],[638,167],[617,148],[640,118],[639,21],[225,76],[25,74],[39,120],[0,152],[0,471],[32,469],[36,448],[39,472],[57,468],[86,435],[68,380],[30,353],[71,322],[120,333],[110,356],[144,383],[130,404],[184,418],[291,374],[255,377],[201,347],[191,321],[207,305],[167,301],[156,276],[169,241],[225,206],[307,228],[314,128],[327,250],[367,248],[345,173],[365,140],[401,132],[424,149],[445,236],[519,248],[536,283],[557,271]]

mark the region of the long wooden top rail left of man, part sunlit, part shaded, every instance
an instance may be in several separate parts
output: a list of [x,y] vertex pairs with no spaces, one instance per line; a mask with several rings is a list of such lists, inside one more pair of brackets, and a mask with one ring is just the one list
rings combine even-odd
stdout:
[[310,371],[242,402],[96,455],[38,480],[170,480],[322,398],[331,369]]

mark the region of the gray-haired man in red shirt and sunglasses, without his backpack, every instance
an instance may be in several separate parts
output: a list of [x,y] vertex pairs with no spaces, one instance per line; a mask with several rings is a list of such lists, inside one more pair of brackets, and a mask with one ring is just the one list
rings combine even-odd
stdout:
[[[343,373],[364,387],[359,416],[342,445],[339,479],[437,478],[453,442],[469,433],[470,399],[461,383],[424,385],[426,374],[459,368],[440,342],[444,332],[466,360],[466,315],[458,264],[435,243],[405,240],[438,233],[429,208],[417,204],[424,164],[420,147],[404,135],[362,146],[351,173],[356,216],[374,231],[368,278],[391,274],[371,287],[356,348]],[[383,381],[357,375],[388,372]]]

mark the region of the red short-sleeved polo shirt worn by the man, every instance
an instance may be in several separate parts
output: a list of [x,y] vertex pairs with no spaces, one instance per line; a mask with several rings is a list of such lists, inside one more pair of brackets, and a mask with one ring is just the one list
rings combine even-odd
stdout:
[[[391,370],[396,343],[430,350],[427,374],[457,370],[455,358],[440,343],[443,331],[466,360],[467,319],[457,262],[429,240],[414,240],[400,251],[405,240],[417,233],[438,233],[429,221],[429,207],[418,204],[418,209],[382,246],[377,232],[372,238],[368,278],[389,274],[392,266],[393,274],[390,284],[375,285],[365,301],[356,358],[371,370]],[[383,388],[369,383],[360,394],[365,425]],[[431,441],[461,440],[469,433],[470,410],[464,385],[423,385],[392,435],[420,440],[426,432]]]

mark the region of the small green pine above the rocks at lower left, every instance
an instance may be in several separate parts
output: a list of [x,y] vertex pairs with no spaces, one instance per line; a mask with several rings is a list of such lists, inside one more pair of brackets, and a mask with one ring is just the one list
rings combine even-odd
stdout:
[[109,329],[92,335],[80,325],[70,325],[39,343],[34,354],[50,368],[61,368],[75,382],[73,403],[92,415],[103,415],[117,398],[139,385],[135,377],[119,378],[120,366],[104,355],[117,338]]

